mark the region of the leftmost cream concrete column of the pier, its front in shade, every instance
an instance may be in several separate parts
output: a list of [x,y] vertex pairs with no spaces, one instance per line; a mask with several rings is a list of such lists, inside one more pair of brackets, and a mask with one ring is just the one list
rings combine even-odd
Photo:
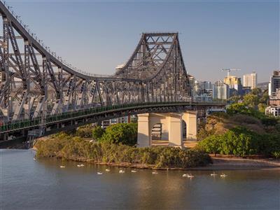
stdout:
[[149,113],[138,115],[137,146],[138,147],[151,146]]

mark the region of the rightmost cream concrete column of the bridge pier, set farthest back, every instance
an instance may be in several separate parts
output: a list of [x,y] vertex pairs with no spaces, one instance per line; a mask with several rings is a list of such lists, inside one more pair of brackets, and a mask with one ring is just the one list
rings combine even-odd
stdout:
[[187,124],[187,139],[197,140],[197,111],[184,112],[182,118]]

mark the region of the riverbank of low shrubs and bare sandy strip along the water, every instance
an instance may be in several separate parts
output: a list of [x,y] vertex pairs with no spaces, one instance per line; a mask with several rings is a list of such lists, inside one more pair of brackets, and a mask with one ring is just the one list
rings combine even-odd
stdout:
[[[66,139],[65,139],[66,138]],[[116,144],[97,144],[77,138],[38,141],[38,158],[88,162],[97,165],[158,170],[280,169],[280,160],[258,156],[208,155],[195,149],[170,147],[134,148]],[[45,141],[47,140],[47,141]]]

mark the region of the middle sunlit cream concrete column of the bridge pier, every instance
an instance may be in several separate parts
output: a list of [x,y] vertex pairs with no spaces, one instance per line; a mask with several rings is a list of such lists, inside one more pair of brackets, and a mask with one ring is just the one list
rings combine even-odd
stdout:
[[183,147],[183,130],[181,114],[169,114],[169,146]]

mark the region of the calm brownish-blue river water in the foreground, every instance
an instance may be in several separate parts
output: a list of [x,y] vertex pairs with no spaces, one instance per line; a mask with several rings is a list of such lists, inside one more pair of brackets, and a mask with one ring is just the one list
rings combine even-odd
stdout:
[[182,171],[119,174],[118,167],[33,160],[30,150],[0,153],[0,209],[280,209],[279,169],[217,172],[225,179],[193,171],[188,179]]

